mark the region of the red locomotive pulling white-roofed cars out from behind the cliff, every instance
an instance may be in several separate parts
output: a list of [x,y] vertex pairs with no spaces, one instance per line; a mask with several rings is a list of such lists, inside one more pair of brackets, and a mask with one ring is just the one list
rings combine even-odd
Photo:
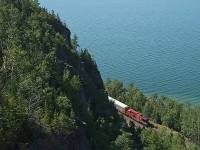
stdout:
[[109,101],[113,102],[116,109],[121,112],[122,114],[130,117],[131,119],[145,125],[148,126],[149,125],[149,119],[142,116],[141,114],[139,114],[137,111],[135,111],[132,108],[129,108],[128,105],[108,96]]

